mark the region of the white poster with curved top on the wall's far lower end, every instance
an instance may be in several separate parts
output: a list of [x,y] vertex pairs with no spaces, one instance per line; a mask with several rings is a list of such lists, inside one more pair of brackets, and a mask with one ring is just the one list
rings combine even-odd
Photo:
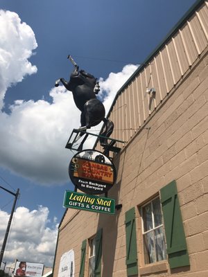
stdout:
[[60,258],[58,277],[74,277],[74,252],[73,249],[64,253]]

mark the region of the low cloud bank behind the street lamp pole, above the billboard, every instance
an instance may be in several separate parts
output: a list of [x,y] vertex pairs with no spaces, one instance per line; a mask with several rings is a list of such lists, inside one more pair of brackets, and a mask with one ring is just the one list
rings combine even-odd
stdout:
[[[0,238],[3,238],[9,215],[0,210]],[[37,210],[29,211],[28,208],[16,209],[10,229],[10,236],[6,244],[3,259],[8,263],[18,260],[30,260],[53,265],[55,244],[58,234],[58,225],[49,228],[49,209],[39,206]],[[2,244],[3,240],[0,241]]]

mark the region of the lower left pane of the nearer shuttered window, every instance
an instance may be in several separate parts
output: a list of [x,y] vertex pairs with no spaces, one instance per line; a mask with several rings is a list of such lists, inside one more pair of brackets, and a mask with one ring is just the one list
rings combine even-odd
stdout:
[[153,231],[150,231],[144,235],[144,260],[146,264],[156,262]]

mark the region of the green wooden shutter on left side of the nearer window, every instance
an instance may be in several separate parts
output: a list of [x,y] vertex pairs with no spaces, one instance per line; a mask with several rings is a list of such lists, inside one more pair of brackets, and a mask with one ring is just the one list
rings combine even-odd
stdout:
[[127,276],[137,275],[137,235],[135,222],[135,208],[125,213],[125,238]]

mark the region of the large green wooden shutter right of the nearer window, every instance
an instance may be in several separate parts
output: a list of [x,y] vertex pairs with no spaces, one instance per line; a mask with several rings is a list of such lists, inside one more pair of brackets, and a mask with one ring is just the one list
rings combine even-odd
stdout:
[[190,265],[175,181],[162,188],[160,195],[170,268]]

